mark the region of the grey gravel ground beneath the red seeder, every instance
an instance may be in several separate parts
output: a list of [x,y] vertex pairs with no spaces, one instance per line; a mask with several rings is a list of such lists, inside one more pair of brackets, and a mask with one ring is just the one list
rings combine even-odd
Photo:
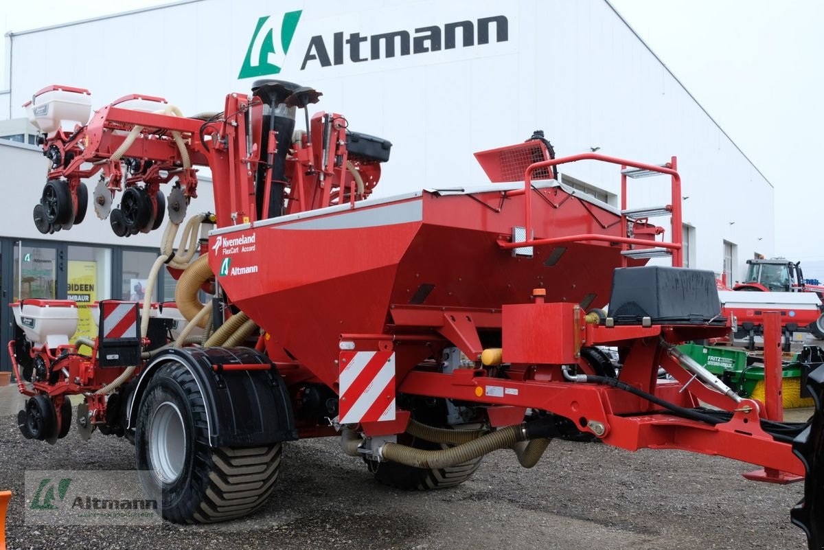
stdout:
[[807,548],[789,508],[801,484],[747,482],[747,464],[680,451],[629,453],[554,441],[536,468],[509,452],[436,492],[382,487],[335,440],[285,445],[279,487],[245,520],[218,525],[89,528],[23,524],[25,469],[133,469],[126,440],[57,445],[23,439],[0,417],[0,488],[14,492],[7,544],[17,548]]

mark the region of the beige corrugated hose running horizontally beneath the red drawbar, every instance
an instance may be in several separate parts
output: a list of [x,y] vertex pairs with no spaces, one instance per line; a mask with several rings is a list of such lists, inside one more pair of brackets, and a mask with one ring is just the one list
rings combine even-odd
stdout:
[[385,443],[377,453],[382,459],[413,468],[440,469],[478,459],[494,450],[512,447],[525,439],[523,425],[507,426],[449,449],[422,450],[398,443]]

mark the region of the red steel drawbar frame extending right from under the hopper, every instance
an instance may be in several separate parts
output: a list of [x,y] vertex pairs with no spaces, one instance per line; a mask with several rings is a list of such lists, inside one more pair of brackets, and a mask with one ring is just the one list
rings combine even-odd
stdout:
[[[485,320],[484,326],[496,324],[491,319],[495,314],[488,315],[490,318]],[[509,329],[526,328],[517,325],[502,326],[504,332]],[[558,326],[532,325],[529,329],[531,338],[540,342],[541,346],[566,345],[564,331],[559,330]],[[579,422],[579,428],[584,431],[593,431],[590,427],[591,422],[600,423],[603,432],[597,435],[604,443],[622,449],[677,449],[717,454],[751,464],[760,464],[768,468],[768,471],[803,476],[803,464],[793,454],[792,445],[776,441],[759,425],[761,418],[770,418],[776,414],[775,406],[780,407],[780,399],[777,405],[775,402],[770,403],[770,409],[752,399],[743,399],[736,403],[700,382],[691,380],[690,373],[669,357],[658,344],[659,338],[670,343],[681,343],[693,338],[720,336],[727,330],[727,327],[700,326],[606,328],[587,324],[582,331],[585,335],[581,342],[582,346],[618,346],[625,351],[624,366],[619,380],[681,407],[697,407],[700,400],[733,412],[732,420],[715,426],[674,416],[666,409],[620,389],[604,385],[571,383],[564,380],[559,365],[527,366],[522,371],[509,372],[508,378],[490,377],[483,369],[460,369],[452,374],[443,374],[419,368],[405,371],[405,374],[399,372],[400,382],[397,390],[402,394],[491,405],[490,411],[499,407],[513,407],[517,410],[537,408]],[[355,336],[344,335],[342,338],[354,339]],[[361,338],[380,336],[360,335]],[[383,335],[382,338],[391,337]],[[405,341],[396,341],[398,347],[410,345],[410,337],[404,338]],[[422,334],[416,338],[428,338],[430,344],[436,341],[436,338]],[[471,336],[465,338],[471,339]],[[587,369],[584,361],[579,361],[579,364]],[[677,381],[658,380],[659,364]],[[503,391],[500,391],[497,397],[490,398],[486,391],[489,386],[502,388]],[[511,417],[509,420],[508,423],[520,422],[517,417]],[[371,427],[375,431],[374,427]]]

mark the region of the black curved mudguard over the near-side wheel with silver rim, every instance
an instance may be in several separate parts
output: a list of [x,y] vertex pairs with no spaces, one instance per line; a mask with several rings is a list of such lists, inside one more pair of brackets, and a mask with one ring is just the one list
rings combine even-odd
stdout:
[[[253,446],[297,440],[286,384],[267,357],[249,347],[185,347],[160,352],[143,369],[127,406],[133,430],[149,380],[164,365],[176,362],[194,376],[208,418],[209,445]],[[232,366],[269,365],[263,370]]]

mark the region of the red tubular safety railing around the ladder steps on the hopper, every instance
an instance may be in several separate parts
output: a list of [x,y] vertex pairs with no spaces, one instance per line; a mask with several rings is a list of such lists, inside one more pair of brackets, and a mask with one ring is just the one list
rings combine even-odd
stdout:
[[[602,161],[621,167],[621,231],[623,235],[627,234],[627,217],[623,213],[626,210],[626,179],[627,175],[624,170],[627,168],[636,168],[638,170],[649,170],[661,174],[672,176],[672,203],[667,205],[672,210],[672,242],[662,242],[658,240],[648,239],[634,239],[627,236],[612,236],[612,235],[598,235],[598,234],[584,234],[584,235],[568,235],[564,237],[554,237],[550,239],[535,239],[532,237],[532,197],[528,191],[532,188],[532,173],[541,168],[550,166],[557,166],[562,164],[569,164],[577,161]],[[525,195],[524,226],[526,228],[526,239],[520,242],[501,242],[500,246],[503,249],[519,249],[527,246],[541,246],[541,245],[558,245],[560,243],[569,242],[583,242],[591,240],[608,241],[620,243],[621,250],[628,249],[629,245],[639,246],[656,246],[663,249],[671,250],[672,265],[681,267],[683,265],[683,246],[681,243],[681,176],[676,170],[677,160],[672,157],[671,163],[665,166],[657,166],[645,164],[643,162],[625,161],[624,159],[616,158],[614,156],[598,155],[597,153],[581,153],[579,155],[564,156],[562,158],[550,159],[549,161],[541,161],[531,164],[527,167],[524,174],[523,189],[515,189],[508,191],[506,196],[515,197],[517,195]]]

